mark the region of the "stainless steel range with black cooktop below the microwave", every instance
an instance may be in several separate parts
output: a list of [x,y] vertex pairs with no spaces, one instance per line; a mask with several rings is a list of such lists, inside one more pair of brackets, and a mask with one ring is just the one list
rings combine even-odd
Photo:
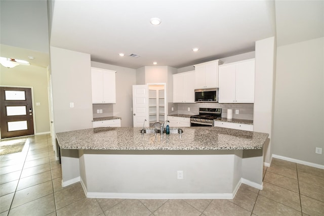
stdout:
[[214,120],[221,116],[222,108],[199,108],[199,115],[190,116],[190,126],[214,126]]

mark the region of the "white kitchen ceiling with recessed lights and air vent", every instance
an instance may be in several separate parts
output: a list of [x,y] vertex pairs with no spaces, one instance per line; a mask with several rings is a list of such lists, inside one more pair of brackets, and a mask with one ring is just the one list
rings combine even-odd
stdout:
[[254,51],[275,36],[274,20],[273,1],[56,1],[50,44],[107,64],[180,68]]

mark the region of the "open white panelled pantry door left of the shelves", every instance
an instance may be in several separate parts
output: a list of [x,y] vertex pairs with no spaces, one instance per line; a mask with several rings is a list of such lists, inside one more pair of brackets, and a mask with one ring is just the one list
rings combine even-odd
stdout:
[[143,123],[144,126],[149,126],[148,86],[133,85],[133,126],[142,127]]

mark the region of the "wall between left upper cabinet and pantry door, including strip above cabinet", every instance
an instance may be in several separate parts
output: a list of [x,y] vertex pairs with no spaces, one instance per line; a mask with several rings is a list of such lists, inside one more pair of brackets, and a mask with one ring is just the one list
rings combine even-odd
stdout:
[[99,62],[91,62],[92,67],[115,70],[116,104],[112,105],[113,115],[121,117],[122,127],[133,126],[133,85],[136,84],[136,70]]

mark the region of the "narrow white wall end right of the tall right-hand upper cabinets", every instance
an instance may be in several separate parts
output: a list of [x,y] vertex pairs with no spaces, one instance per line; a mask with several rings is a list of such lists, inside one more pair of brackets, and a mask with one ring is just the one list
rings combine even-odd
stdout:
[[256,41],[253,130],[269,134],[264,145],[264,162],[271,162],[271,131],[274,102],[275,38]]

